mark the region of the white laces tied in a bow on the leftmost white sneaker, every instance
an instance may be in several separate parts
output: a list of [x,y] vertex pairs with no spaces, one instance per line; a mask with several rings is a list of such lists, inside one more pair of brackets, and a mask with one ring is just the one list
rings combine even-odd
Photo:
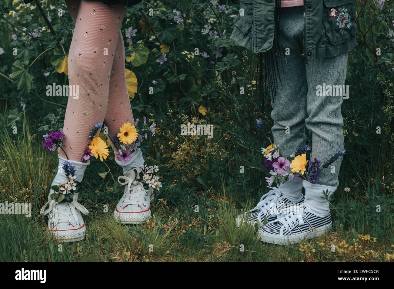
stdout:
[[[48,209],[45,210],[46,206]],[[70,212],[67,211],[69,208]],[[78,215],[76,210],[80,211],[82,214],[89,214],[89,211],[78,203],[75,199],[72,202],[58,203],[56,200],[49,200],[45,203],[45,205],[41,208],[40,214],[45,216],[46,214],[55,210],[54,214],[58,214],[58,223],[70,223],[71,226],[80,226],[78,222]],[[57,224],[53,224],[52,226],[56,226]]]

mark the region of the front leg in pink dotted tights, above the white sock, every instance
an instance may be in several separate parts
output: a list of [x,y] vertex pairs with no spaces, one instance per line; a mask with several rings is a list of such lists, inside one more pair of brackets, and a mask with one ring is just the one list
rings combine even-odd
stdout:
[[[71,2],[68,5],[75,7]],[[74,10],[71,12],[75,15]],[[63,127],[65,151],[70,160],[81,160],[91,129],[104,121],[112,52],[125,12],[123,5],[109,7],[99,1],[80,2],[68,62],[69,85],[78,85],[79,97],[69,97]],[[59,155],[65,157],[61,150]]]

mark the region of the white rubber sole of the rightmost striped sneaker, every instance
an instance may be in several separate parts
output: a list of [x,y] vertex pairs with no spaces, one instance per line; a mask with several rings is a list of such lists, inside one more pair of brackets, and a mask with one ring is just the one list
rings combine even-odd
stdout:
[[292,234],[290,236],[279,236],[275,234],[262,233],[261,230],[259,230],[257,237],[260,241],[266,243],[277,244],[277,245],[290,245],[290,244],[298,243],[299,241],[302,240],[312,239],[314,237],[324,235],[327,231],[331,230],[331,226],[332,223],[330,222],[325,226],[321,226],[307,233]]

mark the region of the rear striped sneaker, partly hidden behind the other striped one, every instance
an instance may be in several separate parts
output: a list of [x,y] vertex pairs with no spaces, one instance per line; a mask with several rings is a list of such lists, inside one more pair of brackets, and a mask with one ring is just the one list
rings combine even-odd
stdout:
[[[302,203],[303,201],[304,196],[301,194],[300,199],[296,203]],[[262,226],[264,225],[265,217],[267,218],[267,223],[274,221],[283,210],[294,204],[294,202],[282,195],[279,188],[274,187],[261,197],[260,202],[258,202],[255,208],[237,217],[237,226],[239,227],[242,222],[247,222],[252,226],[255,224]]]

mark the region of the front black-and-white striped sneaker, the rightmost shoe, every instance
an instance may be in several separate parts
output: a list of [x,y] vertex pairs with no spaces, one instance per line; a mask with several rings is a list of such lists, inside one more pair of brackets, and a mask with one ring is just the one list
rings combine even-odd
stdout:
[[323,235],[331,229],[331,214],[314,215],[304,206],[293,206],[288,214],[282,214],[258,230],[258,239],[266,243],[288,245]]

